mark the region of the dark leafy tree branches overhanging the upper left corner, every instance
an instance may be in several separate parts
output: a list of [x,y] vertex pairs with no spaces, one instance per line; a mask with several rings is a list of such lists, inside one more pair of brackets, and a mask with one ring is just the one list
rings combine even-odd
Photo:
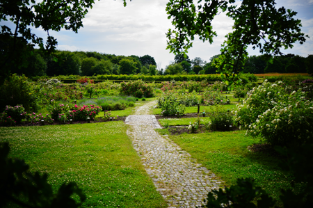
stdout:
[[[126,0],[124,6],[126,6]],[[49,31],[61,29],[77,31],[83,26],[83,18],[92,8],[95,0],[1,0],[0,1],[0,84],[9,76],[11,67],[20,67],[17,49],[31,42],[51,53],[56,49],[56,38]],[[15,24],[15,29],[6,26],[6,22]],[[31,26],[47,32],[47,40],[33,33]],[[45,46],[44,46],[45,45]],[[22,54],[24,63],[31,51]],[[18,60],[18,61],[17,61]]]

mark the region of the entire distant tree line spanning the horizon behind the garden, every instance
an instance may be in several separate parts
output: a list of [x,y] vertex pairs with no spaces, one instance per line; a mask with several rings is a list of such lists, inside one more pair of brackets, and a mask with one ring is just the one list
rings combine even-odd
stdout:
[[[56,51],[53,55],[45,55],[39,49],[33,49],[28,64],[11,67],[12,73],[25,74],[26,77],[98,74],[217,74],[212,56],[207,61],[200,57],[190,60],[188,55],[176,55],[175,61],[166,66],[165,70],[157,70],[157,63],[152,56],[116,56],[96,51]],[[313,74],[313,55],[302,56],[287,54],[284,56],[249,56],[243,72],[262,73],[305,73]]]

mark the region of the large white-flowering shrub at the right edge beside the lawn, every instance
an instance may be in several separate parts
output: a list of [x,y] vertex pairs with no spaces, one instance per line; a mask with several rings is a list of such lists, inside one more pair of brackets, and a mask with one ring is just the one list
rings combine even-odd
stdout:
[[281,81],[265,81],[250,90],[233,111],[235,122],[240,129],[246,128],[247,134],[262,136],[272,145],[305,143],[313,139],[313,102],[301,89],[289,94],[281,85]]

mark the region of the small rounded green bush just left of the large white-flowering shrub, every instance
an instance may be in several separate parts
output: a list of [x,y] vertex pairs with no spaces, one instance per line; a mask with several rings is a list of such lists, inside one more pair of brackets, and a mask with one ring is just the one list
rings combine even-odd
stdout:
[[221,109],[219,105],[216,105],[215,111],[213,109],[206,114],[210,119],[207,124],[207,129],[211,131],[227,131],[230,129],[230,126],[233,125],[233,115],[230,111]]

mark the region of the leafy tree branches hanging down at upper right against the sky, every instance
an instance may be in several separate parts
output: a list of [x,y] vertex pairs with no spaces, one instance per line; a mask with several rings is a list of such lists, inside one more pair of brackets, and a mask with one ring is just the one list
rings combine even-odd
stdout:
[[235,0],[170,0],[166,11],[172,18],[175,29],[167,33],[168,47],[175,54],[186,54],[192,47],[195,35],[200,40],[213,42],[216,32],[211,25],[219,11],[234,20],[233,31],[226,35],[227,40],[216,61],[220,72],[228,81],[237,80],[236,74],[242,70],[248,56],[248,45],[259,48],[262,54],[281,54],[280,48],[291,48],[296,41],[305,42],[307,35],[300,31],[300,20],[294,19],[296,12],[275,8],[275,0],[241,1]]

